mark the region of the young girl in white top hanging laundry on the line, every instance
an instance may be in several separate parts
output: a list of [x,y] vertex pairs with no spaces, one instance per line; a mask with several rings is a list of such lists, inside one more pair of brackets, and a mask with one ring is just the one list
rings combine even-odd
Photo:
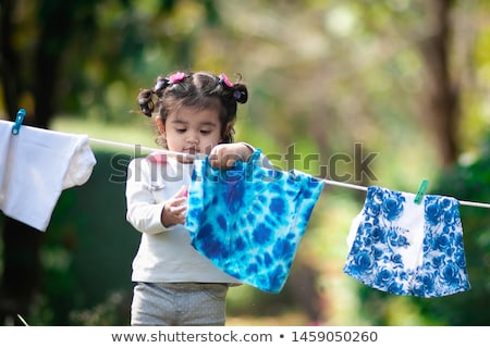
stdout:
[[248,161],[254,148],[233,142],[236,107],[247,97],[244,84],[206,72],[158,77],[154,89],[139,92],[142,112],[155,117],[157,141],[172,152],[134,159],[127,170],[126,217],[142,233],[132,325],[224,325],[228,288],[240,282],[191,246],[186,187],[195,156],[207,154],[223,169]]

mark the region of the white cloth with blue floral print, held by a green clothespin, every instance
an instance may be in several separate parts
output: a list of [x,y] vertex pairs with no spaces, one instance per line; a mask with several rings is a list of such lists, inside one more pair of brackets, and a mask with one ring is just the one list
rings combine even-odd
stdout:
[[441,297],[469,289],[460,202],[369,187],[347,238],[344,272],[379,290]]

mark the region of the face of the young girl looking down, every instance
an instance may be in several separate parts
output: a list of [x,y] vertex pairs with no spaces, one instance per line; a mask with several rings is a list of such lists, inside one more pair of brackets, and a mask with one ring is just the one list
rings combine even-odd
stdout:
[[180,108],[168,115],[162,136],[171,151],[209,154],[221,141],[218,109]]

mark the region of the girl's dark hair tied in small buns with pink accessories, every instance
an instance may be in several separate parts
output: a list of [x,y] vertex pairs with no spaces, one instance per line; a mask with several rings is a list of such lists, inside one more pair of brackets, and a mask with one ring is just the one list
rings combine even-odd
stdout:
[[152,89],[139,92],[137,102],[144,115],[151,117],[156,113],[157,122],[162,124],[182,107],[197,110],[218,107],[222,142],[233,142],[236,107],[247,99],[247,87],[240,82],[231,83],[224,74],[176,72],[159,76]]

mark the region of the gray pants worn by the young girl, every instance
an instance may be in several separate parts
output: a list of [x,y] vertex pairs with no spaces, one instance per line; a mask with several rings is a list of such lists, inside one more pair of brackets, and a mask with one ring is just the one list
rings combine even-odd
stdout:
[[131,306],[133,326],[223,326],[228,284],[138,283]]

